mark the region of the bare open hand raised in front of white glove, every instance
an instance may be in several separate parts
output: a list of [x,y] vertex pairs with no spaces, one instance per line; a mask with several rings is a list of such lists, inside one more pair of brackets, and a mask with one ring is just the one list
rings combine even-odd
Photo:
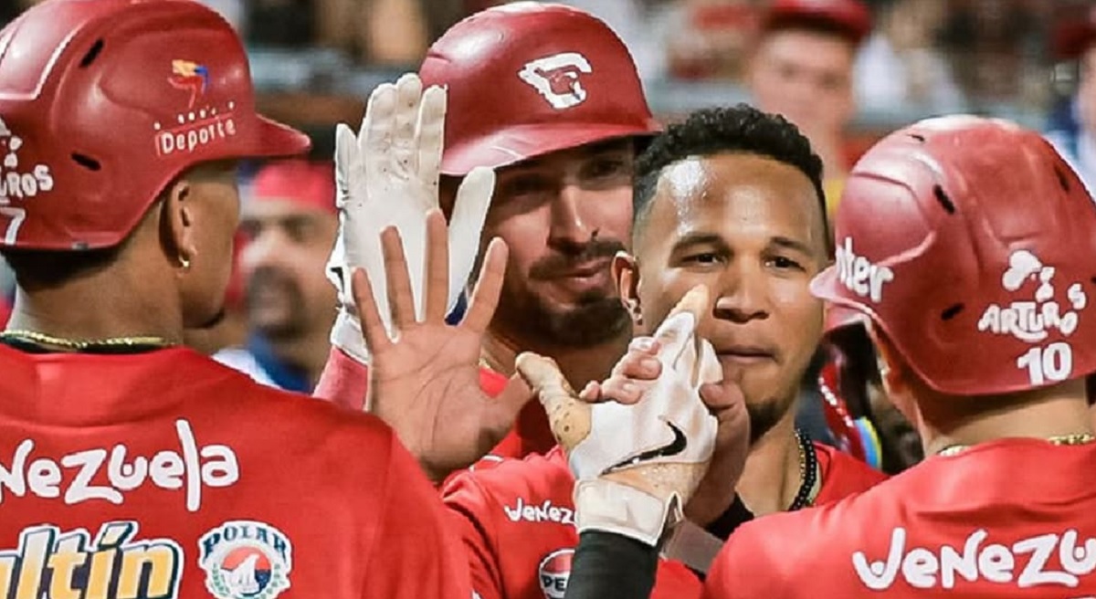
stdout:
[[450,326],[445,323],[449,287],[446,235],[441,211],[431,210],[426,216],[421,318],[395,228],[380,234],[390,327],[373,293],[372,273],[357,269],[353,276],[362,331],[373,355],[366,410],[396,430],[435,482],[490,451],[532,398],[516,377],[498,398],[488,398],[479,387],[480,344],[499,302],[506,245],[492,240],[468,311],[460,324]]

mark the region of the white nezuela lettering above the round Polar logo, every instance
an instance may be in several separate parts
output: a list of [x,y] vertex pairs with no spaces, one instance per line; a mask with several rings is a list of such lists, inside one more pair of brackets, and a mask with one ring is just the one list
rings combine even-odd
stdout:
[[[0,461],[0,505],[5,489],[16,497],[25,496],[30,489],[32,495],[45,499],[61,497],[64,491],[64,500],[69,505],[92,499],[121,505],[124,493],[151,482],[165,491],[184,488],[186,509],[197,511],[202,507],[203,486],[225,487],[240,480],[239,462],[228,446],[209,445],[199,449],[185,419],[175,422],[175,431],[179,451],[165,449],[151,459],[127,456],[129,449],[118,444],[110,451],[93,448],[68,453],[59,460],[41,457],[30,461],[34,440],[24,439],[15,448],[10,466]],[[61,469],[72,475],[67,486]]]

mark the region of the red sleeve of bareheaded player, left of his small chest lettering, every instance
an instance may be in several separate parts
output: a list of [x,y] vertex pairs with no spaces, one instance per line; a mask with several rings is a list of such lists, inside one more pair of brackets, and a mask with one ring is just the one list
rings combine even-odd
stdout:
[[492,518],[480,515],[501,512],[489,493],[472,476],[454,476],[442,493],[450,527],[459,534],[471,575],[472,590],[482,599],[503,599],[502,574],[499,572],[498,539]]

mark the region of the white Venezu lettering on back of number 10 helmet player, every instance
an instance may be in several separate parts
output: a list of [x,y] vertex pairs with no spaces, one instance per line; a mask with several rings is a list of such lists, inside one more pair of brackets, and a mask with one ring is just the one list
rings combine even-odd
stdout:
[[[983,545],[989,537],[987,531],[975,530],[967,537],[962,552],[950,545],[940,546],[938,552],[923,548],[906,551],[906,532],[899,527],[891,533],[886,562],[869,562],[864,552],[857,551],[853,554],[853,568],[871,590],[890,588],[900,572],[906,584],[918,589],[937,586],[951,589],[959,578],[969,583],[981,579],[1014,584],[1018,588],[1040,585],[1074,588],[1081,584],[1081,576],[1096,569],[1096,539],[1077,544],[1078,534],[1073,529],[1061,535],[1048,533],[1021,539],[1011,548],[1000,543]],[[1021,566],[1026,555],[1030,557]],[[1061,569],[1050,565],[1055,555]]]

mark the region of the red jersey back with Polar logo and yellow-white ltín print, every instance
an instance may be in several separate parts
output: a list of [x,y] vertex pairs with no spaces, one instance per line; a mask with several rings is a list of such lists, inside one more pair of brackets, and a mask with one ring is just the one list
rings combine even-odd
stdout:
[[0,346],[0,597],[467,599],[388,427],[186,348]]

